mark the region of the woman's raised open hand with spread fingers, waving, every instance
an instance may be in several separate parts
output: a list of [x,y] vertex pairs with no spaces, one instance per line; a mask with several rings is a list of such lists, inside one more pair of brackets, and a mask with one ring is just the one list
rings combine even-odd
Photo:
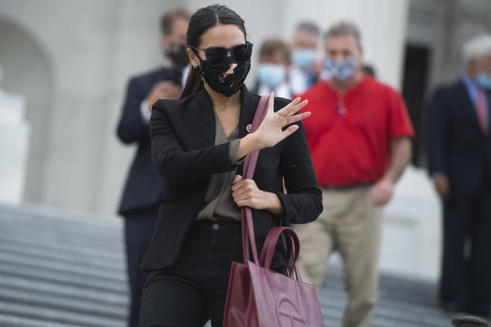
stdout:
[[305,107],[307,100],[300,102],[300,98],[296,98],[277,112],[274,111],[274,102],[275,93],[271,92],[266,116],[261,122],[261,125],[253,133],[260,148],[275,146],[298,129],[298,125],[292,125],[284,131],[282,130],[283,127],[301,121],[310,115],[309,111],[295,114]]

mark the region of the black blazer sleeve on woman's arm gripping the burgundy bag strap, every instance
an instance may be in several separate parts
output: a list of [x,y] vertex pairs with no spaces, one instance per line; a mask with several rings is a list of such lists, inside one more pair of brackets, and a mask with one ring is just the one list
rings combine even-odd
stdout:
[[[309,118],[307,118],[309,119]],[[303,224],[314,221],[322,212],[322,192],[307,146],[305,129],[299,129],[284,140],[280,171],[287,194],[275,192],[284,208],[283,222]]]

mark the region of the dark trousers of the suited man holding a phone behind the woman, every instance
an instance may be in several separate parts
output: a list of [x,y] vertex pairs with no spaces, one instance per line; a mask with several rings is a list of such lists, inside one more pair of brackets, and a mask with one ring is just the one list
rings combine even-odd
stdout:
[[155,220],[159,207],[153,207],[126,215],[125,241],[128,280],[130,287],[131,303],[129,309],[129,327],[138,327],[140,317],[140,300],[147,274],[140,271],[143,256],[152,239]]

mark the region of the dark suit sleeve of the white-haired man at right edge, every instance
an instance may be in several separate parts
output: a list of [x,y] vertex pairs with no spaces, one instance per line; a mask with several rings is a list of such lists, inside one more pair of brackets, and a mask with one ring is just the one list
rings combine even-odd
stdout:
[[447,174],[447,142],[449,130],[449,96],[445,89],[435,92],[428,109],[426,126],[426,146],[428,151],[428,171],[431,174]]

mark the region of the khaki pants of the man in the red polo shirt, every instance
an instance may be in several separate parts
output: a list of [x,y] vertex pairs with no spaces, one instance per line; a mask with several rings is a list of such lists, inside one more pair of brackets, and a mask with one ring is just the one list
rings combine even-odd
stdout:
[[320,289],[329,254],[339,250],[348,292],[343,327],[369,327],[377,300],[378,250],[382,209],[370,198],[371,186],[323,189],[324,211],[308,224],[296,225],[300,238],[302,280]]

